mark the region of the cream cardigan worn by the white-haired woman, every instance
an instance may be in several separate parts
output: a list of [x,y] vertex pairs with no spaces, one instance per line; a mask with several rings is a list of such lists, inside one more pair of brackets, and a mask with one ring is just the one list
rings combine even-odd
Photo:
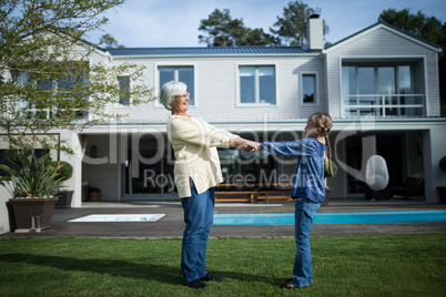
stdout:
[[229,147],[239,135],[195,116],[169,116],[168,137],[175,152],[174,180],[180,198],[191,196],[190,178],[199,194],[223,182],[216,147]]

